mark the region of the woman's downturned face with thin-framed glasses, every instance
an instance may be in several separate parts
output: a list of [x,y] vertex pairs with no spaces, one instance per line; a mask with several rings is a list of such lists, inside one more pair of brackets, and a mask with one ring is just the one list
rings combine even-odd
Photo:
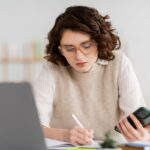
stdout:
[[88,72],[98,58],[97,44],[82,32],[64,31],[59,48],[67,62],[78,72]]

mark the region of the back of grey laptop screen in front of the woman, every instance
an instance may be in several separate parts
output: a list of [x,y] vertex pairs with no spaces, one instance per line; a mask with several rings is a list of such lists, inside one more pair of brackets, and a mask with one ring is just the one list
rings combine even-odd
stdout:
[[0,83],[0,149],[46,150],[29,83]]

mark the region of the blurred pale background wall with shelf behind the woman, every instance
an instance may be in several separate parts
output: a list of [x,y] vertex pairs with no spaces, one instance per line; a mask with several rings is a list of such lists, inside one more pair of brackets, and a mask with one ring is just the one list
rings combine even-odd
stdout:
[[150,106],[149,0],[0,0],[0,81],[36,78],[47,33],[70,5],[92,6],[110,15]]

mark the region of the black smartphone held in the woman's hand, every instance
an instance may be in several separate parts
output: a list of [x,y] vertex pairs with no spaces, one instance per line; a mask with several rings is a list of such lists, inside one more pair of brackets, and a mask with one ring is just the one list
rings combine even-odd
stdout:
[[[140,107],[136,111],[134,111],[133,114],[141,122],[143,127],[150,124],[150,109],[146,107]],[[136,129],[136,126],[130,118],[130,116],[128,116],[127,119],[130,122],[130,124]],[[115,126],[115,130],[120,132],[117,126]]]

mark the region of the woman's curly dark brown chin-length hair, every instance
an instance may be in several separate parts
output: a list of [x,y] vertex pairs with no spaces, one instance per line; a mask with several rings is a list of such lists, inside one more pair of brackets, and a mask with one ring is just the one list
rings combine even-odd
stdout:
[[48,33],[49,43],[46,45],[47,61],[68,65],[58,47],[65,30],[83,32],[90,35],[97,43],[98,57],[104,60],[114,59],[113,50],[119,49],[121,42],[114,33],[115,29],[108,21],[109,16],[102,16],[98,10],[86,6],[71,6],[60,14],[52,30]]

